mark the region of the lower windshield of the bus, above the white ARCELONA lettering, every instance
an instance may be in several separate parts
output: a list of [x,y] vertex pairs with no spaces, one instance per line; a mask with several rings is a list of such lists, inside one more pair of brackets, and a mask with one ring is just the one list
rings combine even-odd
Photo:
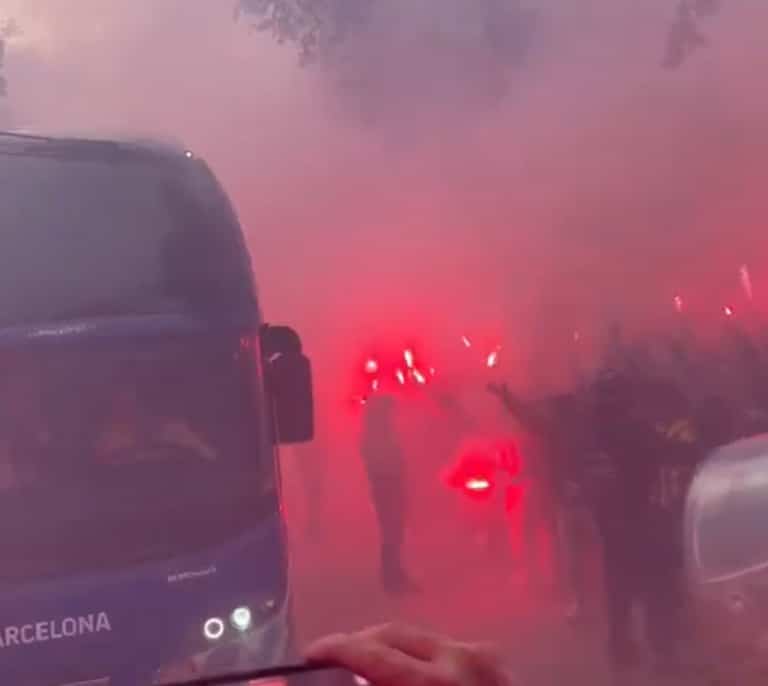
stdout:
[[232,345],[2,357],[0,519],[23,526],[0,531],[0,584],[194,554],[277,511]]

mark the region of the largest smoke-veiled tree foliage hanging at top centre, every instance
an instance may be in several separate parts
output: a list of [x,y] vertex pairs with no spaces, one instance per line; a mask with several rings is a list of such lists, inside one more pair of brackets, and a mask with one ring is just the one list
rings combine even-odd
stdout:
[[238,17],[293,46],[370,123],[503,98],[537,35],[523,2],[536,0],[239,0]]

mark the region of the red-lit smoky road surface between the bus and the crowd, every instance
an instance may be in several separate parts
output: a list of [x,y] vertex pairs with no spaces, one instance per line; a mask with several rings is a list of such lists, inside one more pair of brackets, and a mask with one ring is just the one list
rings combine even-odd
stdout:
[[[590,621],[565,618],[551,558],[535,564],[494,560],[465,535],[446,508],[416,508],[407,559],[419,594],[385,594],[376,574],[375,520],[362,474],[343,470],[327,488],[322,513],[307,510],[301,470],[284,463],[297,624],[302,642],[392,619],[452,636],[499,644],[526,683],[607,683],[598,608]],[[546,549],[546,545],[542,546]]]

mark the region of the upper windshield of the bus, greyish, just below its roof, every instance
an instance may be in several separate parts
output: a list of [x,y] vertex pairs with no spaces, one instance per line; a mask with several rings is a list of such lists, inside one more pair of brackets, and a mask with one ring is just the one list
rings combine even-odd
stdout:
[[196,160],[0,150],[0,226],[0,326],[231,311],[252,288],[231,208]]

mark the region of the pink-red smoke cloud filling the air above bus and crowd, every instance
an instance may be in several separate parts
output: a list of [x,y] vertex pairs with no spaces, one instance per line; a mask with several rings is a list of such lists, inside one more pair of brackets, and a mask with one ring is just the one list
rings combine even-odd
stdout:
[[6,0],[22,30],[9,116],[205,156],[266,312],[303,330],[329,398],[393,331],[433,346],[493,332],[523,383],[574,330],[663,320],[676,294],[718,310],[744,263],[760,297],[768,7],[724,2],[709,46],[666,71],[667,0],[530,0],[525,60],[493,71],[494,53],[457,47],[460,5],[392,3],[404,18],[353,36],[344,62],[302,68],[215,0]]

